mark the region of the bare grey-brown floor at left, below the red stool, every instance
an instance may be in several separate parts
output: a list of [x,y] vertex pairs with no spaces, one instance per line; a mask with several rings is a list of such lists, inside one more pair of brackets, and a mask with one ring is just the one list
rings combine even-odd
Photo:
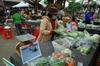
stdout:
[[3,36],[0,35],[0,66],[5,66],[1,61],[3,57],[9,59],[9,56],[15,52],[15,45],[17,42],[14,36],[13,39],[4,40]]

